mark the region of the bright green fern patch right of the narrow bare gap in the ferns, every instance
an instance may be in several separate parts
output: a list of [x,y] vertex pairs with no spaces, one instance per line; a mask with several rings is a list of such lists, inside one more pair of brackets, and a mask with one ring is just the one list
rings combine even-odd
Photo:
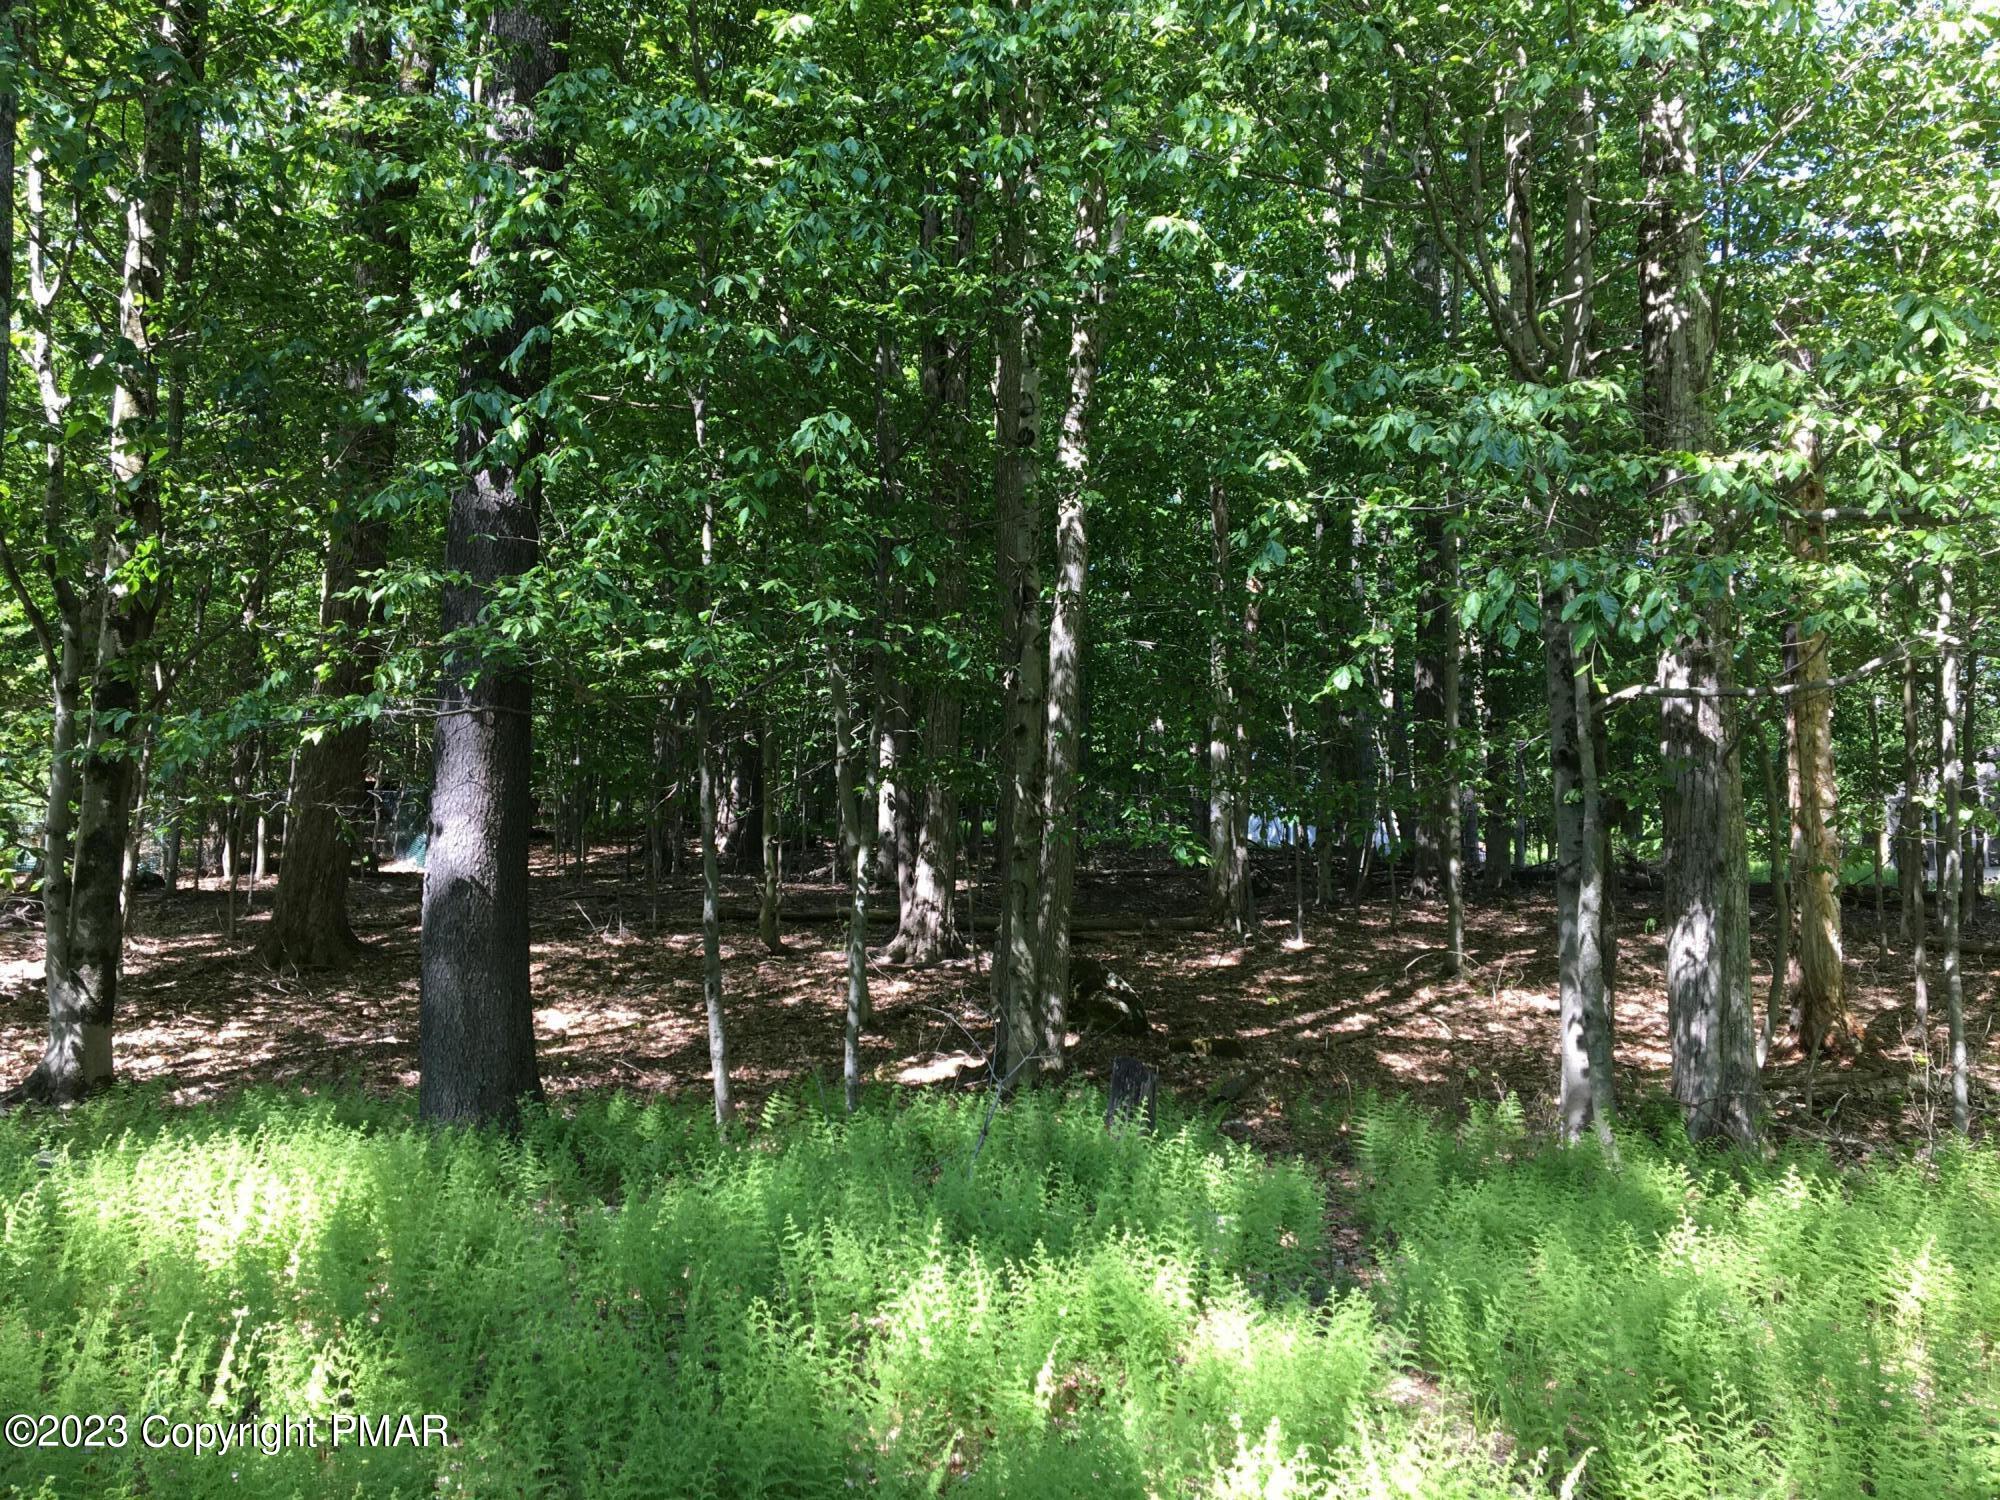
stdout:
[[[1356,1122],[1384,1314],[1578,1494],[2000,1496],[2000,1160],[1836,1168],[1620,1136],[1534,1148],[1518,1110]],[[1588,1454],[1588,1458],[1586,1458]]]

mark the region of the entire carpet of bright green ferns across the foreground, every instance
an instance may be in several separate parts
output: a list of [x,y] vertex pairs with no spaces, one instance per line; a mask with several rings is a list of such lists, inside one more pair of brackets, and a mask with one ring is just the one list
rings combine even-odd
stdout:
[[1312,1164],[1088,1096],[852,1122],[120,1092],[0,1122],[0,1416],[440,1414],[450,1446],[0,1450],[52,1496],[1972,1496],[2000,1172],[1840,1174],[1506,1114]]

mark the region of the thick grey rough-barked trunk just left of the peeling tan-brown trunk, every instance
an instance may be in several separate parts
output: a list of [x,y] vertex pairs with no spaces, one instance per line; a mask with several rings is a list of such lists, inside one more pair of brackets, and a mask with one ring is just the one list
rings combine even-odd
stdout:
[[[1708,446],[1710,374],[1706,232],[1686,64],[1658,64],[1640,156],[1644,432],[1662,456],[1662,540],[1710,550],[1708,516],[1678,454]],[[1734,622],[1726,602],[1700,606],[1660,654],[1660,804],[1666,866],[1666,1006],[1674,1096],[1688,1134],[1748,1144],[1758,1132],[1756,1022],[1750,1004],[1748,852],[1742,766],[1730,692]]]

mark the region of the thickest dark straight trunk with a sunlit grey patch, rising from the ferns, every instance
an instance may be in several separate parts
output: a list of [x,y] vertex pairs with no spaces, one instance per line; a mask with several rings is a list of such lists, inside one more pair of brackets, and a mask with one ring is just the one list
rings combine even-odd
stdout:
[[[486,22],[486,160],[502,180],[560,164],[536,100],[562,72],[566,22],[524,6]],[[462,370],[460,482],[446,522],[444,662],[424,866],[418,1010],[418,1112],[434,1122],[512,1124],[538,1098],[528,986],[528,838],[534,820],[534,682],[518,654],[482,638],[496,588],[536,562],[542,422],[530,402],[548,384],[534,246],[496,244],[482,228],[472,268],[502,326],[478,338]],[[456,636],[456,640],[454,640]]]

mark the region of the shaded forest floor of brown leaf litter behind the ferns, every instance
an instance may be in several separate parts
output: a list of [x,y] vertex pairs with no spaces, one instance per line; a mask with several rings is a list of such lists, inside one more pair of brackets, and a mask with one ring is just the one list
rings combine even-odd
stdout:
[[[534,872],[534,990],[542,1076],[552,1094],[624,1086],[636,1092],[708,1090],[702,1008],[700,890],[660,896],[658,924],[632,862],[610,852],[580,878],[546,850]],[[1280,874],[1276,864],[1272,874]],[[1288,870],[1282,872],[1288,876]],[[224,936],[228,898],[214,880],[174,896],[142,892],[120,996],[118,1070],[162,1082],[178,1102],[216,1098],[252,1082],[350,1082],[370,1090],[416,1084],[416,870],[356,876],[354,926],[368,944],[342,976],[280,974],[256,958],[272,882],[256,912]],[[1402,904],[1392,920],[1382,892],[1362,906],[1306,916],[1292,942],[1288,886],[1268,882],[1266,920],[1236,946],[1212,930],[1166,926],[1200,912],[1198,870],[1116,864],[1084,874],[1078,912],[1132,918],[1132,930],[1086,932],[1096,956],[1138,992],[1154,1026],[1146,1038],[1076,1038],[1074,1068],[1102,1082],[1114,1054],[1160,1070],[1162,1086],[1198,1100],[1222,1084],[1232,1130],[1284,1146],[1288,1100],[1402,1092],[1458,1114],[1468,1102],[1520,1096],[1546,1120],[1554,1096],[1554,904],[1546,884],[1480,896],[1466,914],[1466,974],[1444,974],[1444,914]],[[754,908],[756,882],[726,882],[726,910]],[[788,882],[794,912],[832,912],[842,890]],[[1618,1084],[1626,1102],[1662,1094],[1668,1074],[1662,942],[1652,898],[1632,890],[1620,910]],[[1278,910],[1274,910],[1278,908]],[[1756,992],[1768,990],[1770,910],[1754,904]],[[1146,920],[1160,926],[1146,928]],[[1892,918],[1894,920],[1894,918]],[[1992,928],[1988,932],[1988,928]],[[1988,904],[1974,934],[2000,936]],[[748,920],[726,920],[722,972],[730,1064],[738,1098],[758,1102],[786,1086],[832,1092],[840,1076],[844,1006],[842,928],[788,926],[772,954]],[[882,942],[886,928],[872,928]],[[1766,1102],[1780,1130],[1866,1152],[1890,1136],[1930,1134],[1914,1076],[1908,954],[1876,946],[1874,912],[1848,906],[1848,984],[1854,1046],[1816,1066],[1786,1048],[1766,1070]],[[874,1026],[864,1040],[872,1084],[980,1088],[988,1040],[986,964],[936,968],[876,964]],[[1932,980],[1934,1048],[1942,1052],[1942,982]],[[1978,1092],[2000,1088],[1992,1028],[1994,964],[1966,964],[1968,1034]],[[40,934],[0,932],[0,1058],[28,1072],[44,1036]],[[1220,1038],[1220,1040],[1218,1040]],[[1810,1074],[1810,1078],[1808,1078]],[[1812,1110],[1808,1114],[1808,1082]]]

